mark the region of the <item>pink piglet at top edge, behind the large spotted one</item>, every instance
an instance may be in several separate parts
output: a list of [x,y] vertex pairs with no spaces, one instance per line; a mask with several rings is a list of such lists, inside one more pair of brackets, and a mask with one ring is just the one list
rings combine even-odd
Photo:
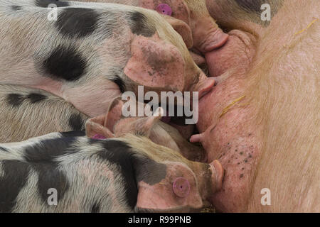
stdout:
[[[186,23],[192,33],[192,40],[188,39],[186,45],[193,48],[196,52],[191,52],[194,60],[199,65],[205,60],[201,55],[218,49],[228,40],[228,34],[215,23],[210,16],[205,0],[75,0],[75,1],[95,1],[95,2],[114,2],[139,6],[146,9],[153,9],[166,16],[177,18]],[[179,31],[181,27],[177,27]],[[199,53],[199,54],[196,54]]]

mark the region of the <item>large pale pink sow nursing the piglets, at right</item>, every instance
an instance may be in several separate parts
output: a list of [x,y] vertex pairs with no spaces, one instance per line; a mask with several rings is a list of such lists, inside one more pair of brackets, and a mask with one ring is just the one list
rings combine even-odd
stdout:
[[[208,162],[218,159],[225,169],[213,204],[225,212],[319,211],[312,133],[319,73],[310,61],[319,3],[270,1],[274,18],[265,23],[260,1],[207,2],[221,26],[232,29],[223,47],[206,54],[217,86],[200,100],[200,134],[191,138],[203,144]],[[271,206],[261,202],[263,189],[270,189]]]

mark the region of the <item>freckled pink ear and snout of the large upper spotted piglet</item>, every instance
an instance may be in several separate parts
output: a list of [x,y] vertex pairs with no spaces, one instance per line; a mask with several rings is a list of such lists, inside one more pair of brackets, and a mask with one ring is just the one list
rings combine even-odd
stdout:
[[190,91],[202,97],[215,85],[215,79],[207,78],[190,56],[183,56],[157,33],[151,38],[135,37],[131,52],[124,73],[144,85],[145,92]]

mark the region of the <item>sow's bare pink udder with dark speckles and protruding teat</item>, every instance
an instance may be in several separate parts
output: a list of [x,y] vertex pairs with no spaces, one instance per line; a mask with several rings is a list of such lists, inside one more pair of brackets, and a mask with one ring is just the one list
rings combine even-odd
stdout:
[[[255,38],[243,31],[230,31],[222,48],[206,53],[210,76],[218,85],[199,101],[198,130],[191,142],[201,142],[208,162],[219,160],[225,169],[220,192],[212,203],[219,211],[244,211],[250,196],[250,181],[260,150],[259,126],[250,124],[253,109],[240,100],[223,116],[223,109],[245,94],[245,72],[255,55]],[[223,75],[222,77],[218,77]],[[241,104],[243,106],[241,106]],[[208,111],[210,106],[210,111]]]

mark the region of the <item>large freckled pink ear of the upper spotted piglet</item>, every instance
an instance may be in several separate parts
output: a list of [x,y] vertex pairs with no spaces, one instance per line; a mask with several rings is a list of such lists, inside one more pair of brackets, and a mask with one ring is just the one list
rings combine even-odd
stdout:
[[124,74],[133,82],[152,89],[183,90],[186,63],[176,46],[161,40],[157,33],[149,38],[136,35],[131,54]]

